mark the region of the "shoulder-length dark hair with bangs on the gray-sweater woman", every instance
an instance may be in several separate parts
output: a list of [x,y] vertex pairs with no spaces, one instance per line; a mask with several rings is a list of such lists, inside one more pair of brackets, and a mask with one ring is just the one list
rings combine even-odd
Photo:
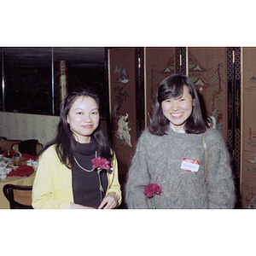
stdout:
[[189,94],[195,100],[194,107],[189,119],[187,119],[184,130],[186,133],[199,134],[207,130],[207,125],[202,117],[201,102],[195,89],[195,85],[184,75],[172,75],[164,79],[160,84],[156,94],[154,115],[148,131],[154,135],[163,136],[168,130],[170,121],[166,119],[161,107],[161,103],[169,98],[177,98],[183,95],[183,86],[187,86]]

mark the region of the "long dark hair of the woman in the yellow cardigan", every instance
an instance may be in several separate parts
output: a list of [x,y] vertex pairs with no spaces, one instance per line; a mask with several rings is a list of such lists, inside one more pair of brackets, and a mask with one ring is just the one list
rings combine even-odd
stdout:
[[[67,123],[67,114],[69,113],[73,102],[79,96],[90,96],[95,99],[99,108],[99,113],[101,113],[100,100],[95,91],[90,89],[80,89],[69,93],[63,102],[61,102],[60,121],[57,125],[56,137],[51,142],[47,143],[45,147],[39,152],[39,155],[43,154],[47,148],[55,144],[56,153],[61,160],[61,163],[63,163],[68,168],[73,167],[73,154],[76,150],[76,142],[73,137],[73,131],[70,130],[69,124]],[[92,133],[91,141],[95,143],[98,155],[106,158],[110,162],[113,160],[113,150],[111,150],[111,143],[109,142],[108,137],[105,137],[103,134],[101,121],[96,128],[96,131]]]

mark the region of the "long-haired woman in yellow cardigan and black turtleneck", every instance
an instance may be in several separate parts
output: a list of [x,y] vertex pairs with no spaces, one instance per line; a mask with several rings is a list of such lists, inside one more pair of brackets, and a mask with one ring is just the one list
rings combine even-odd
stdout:
[[[99,98],[90,90],[74,91],[61,102],[57,135],[39,154],[32,207],[119,207],[117,160],[108,138],[102,133],[99,108]],[[108,160],[108,170],[96,172],[91,160],[99,157]]]

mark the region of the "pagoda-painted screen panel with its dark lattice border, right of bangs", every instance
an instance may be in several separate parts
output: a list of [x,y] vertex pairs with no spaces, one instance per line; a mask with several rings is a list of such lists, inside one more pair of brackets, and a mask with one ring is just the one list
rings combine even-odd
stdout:
[[[203,99],[208,124],[224,137],[236,194],[241,172],[241,49],[226,47],[189,48],[189,79]],[[236,207],[241,207],[240,201]]]

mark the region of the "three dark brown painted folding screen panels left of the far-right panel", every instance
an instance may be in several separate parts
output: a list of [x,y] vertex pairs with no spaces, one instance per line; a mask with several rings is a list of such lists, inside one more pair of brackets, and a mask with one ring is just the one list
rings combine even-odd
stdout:
[[240,48],[108,49],[110,134],[123,181],[140,132],[150,125],[160,82],[172,74],[180,73],[188,75],[195,84],[201,95],[204,117],[227,143],[239,193],[240,59]]

